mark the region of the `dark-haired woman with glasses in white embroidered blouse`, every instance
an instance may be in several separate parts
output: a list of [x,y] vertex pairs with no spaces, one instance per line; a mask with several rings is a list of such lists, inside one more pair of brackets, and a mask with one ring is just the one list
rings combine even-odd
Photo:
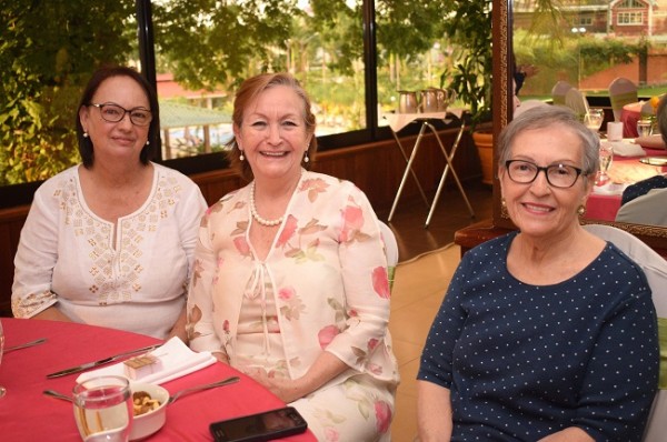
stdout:
[[186,339],[186,290],[206,201],[150,161],[158,99],[136,70],[93,73],[77,114],[82,164],[36,192],[17,251],[17,318]]

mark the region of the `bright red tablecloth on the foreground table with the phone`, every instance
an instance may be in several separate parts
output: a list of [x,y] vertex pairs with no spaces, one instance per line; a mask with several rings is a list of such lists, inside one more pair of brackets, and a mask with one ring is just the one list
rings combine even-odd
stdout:
[[[141,334],[69,322],[10,318],[1,318],[0,321],[4,328],[6,345],[48,339],[41,345],[17,350],[2,358],[0,385],[7,388],[7,395],[0,399],[2,441],[80,441],[72,405],[42,394],[46,389],[71,393],[79,373],[57,379],[47,379],[46,374],[159,342]],[[211,422],[285,406],[252,379],[222,363],[167,382],[163,386],[175,393],[229,375],[238,375],[241,381],[187,395],[168,405],[167,423],[148,440],[212,441],[208,429]],[[302,442],[316,439],[307,432],[285,440]]]

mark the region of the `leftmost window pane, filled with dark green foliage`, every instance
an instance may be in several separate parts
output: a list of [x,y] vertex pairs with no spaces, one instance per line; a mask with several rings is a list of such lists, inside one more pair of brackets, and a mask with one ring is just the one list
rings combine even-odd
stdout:
[[135,0],[4,2],[0,11],[0,185],[77,164],[82,87],[102,63],[138,66]]

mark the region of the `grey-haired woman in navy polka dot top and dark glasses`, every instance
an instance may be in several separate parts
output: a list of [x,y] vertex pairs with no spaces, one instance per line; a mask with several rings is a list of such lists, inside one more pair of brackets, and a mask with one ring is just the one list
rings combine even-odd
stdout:
[[563,107],[501,133],[502,205],[519,230],[457,269],[418,373],[422,442],[641,440],[656,313],[641,270],[578,222],[598,147]]

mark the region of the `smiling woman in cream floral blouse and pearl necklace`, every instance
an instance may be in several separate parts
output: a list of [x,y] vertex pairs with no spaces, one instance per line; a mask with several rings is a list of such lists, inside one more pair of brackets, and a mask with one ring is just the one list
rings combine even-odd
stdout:
[[321,441],[388,441],[398,368],[380,229],[364,192],[307,171],[310,100],[289,74],[243,82],[231,160],[250,184],[209,208],[190,345],[293,405]]

